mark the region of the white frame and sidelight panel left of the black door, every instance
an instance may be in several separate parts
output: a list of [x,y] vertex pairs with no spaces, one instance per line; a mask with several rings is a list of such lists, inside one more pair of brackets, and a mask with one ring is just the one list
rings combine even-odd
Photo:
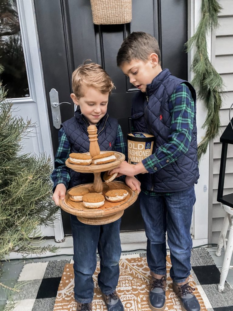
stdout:
[[[36,131],[32,135],[31,149],[37,155],[45,152],[53,160],[52,137],[48,119],[48,108],[43,80],[42,61],[39,48],[35,10],[33,0],[17,0],[22,45],[28,76],[30,97],[12,100],[14,106],[19,105],[17,114],[24,119],[31,118],[36,123]],[[36,133],[35,133],[36,132]],[[61,212],[56,215],[53,227],[41,227],[45,236],[55,236],[56,242],[62,242],[64,231]]]

